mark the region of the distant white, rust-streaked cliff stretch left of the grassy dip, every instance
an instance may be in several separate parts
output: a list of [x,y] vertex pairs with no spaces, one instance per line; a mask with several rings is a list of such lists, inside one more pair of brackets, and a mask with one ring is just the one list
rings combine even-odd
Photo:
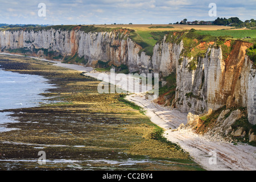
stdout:
[[[1,49],[29,48],[47,49],[62,56],[83,57],[93,66],[94,61],[110,61],[110,64],[120,66],[125,64],[130,72],[148,73],[151,69],[151,56],[144,52],[141,54],[141,46],[131,39],[119,38],[119,32],[89,32],[80,30],[41,30],[41,31],[1,31]],[[35,49],[34,49],[35,48]],[[35,53],[35,52],[34,52]],[[34,56],[45,56],[44,51],[39,50]]]

